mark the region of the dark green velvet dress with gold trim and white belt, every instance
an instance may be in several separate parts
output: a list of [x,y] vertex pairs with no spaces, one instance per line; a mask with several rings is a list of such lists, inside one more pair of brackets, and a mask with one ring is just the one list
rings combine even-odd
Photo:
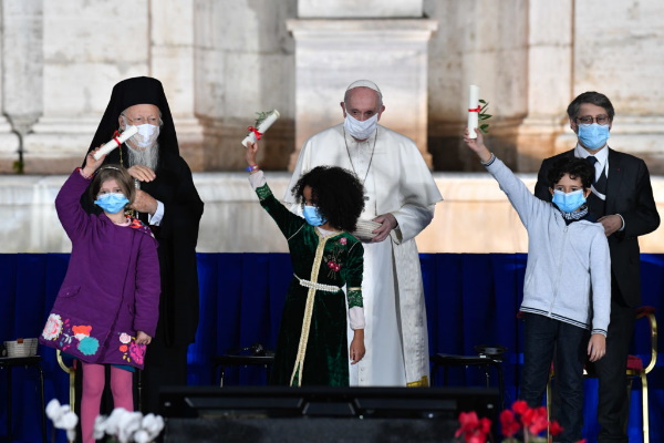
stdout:
[[[363,328],[362,244],[347,233],[321,234],[274,198],[259,174],[262,175],[253,174],[258,177],[252,175],[251,182],[259,182],[255,186],[258,186],[260,204],[288,239],[294,271],[281,317],[270,382],[346,387],[346,303],[341,288],[347,287],[349,309],[361,315],[359,326]],[[351,316],[351,319],[356,317]]]

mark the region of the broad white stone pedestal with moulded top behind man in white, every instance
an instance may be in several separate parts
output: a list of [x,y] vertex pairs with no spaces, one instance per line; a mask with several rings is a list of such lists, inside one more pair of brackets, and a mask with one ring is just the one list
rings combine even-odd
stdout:
[[288,21],[295,39],[295,151],[317,132],[341,123],[339,103],[359,79],[383,92],[381,124],[427,151],[427,43],[437,21],[423,19],[422,0],[300,0]]

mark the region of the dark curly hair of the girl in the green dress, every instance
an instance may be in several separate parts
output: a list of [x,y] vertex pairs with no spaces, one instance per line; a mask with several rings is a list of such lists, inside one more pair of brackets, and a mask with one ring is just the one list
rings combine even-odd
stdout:
[[302,175],[293,187],[298,203],[304,202],[304,187],[311,186],[311,198],[330,225],[352,233],[364,209],[364,186],[355,174],[338,166],[318,166]]

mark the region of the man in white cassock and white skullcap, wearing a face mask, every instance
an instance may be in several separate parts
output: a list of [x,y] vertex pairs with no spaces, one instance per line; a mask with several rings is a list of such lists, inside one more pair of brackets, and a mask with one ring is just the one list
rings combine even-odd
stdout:
[[432,222],[443,197],[415,143],[377,124],[385,106],[375,83],[353,82],[341,107],[343,124],[304,143],[284,200],[291,210],[301,212],[291,189],[303,173],[320,165],[353,171],[364,183],[367,200],[353,234],[364,246],[366,354],[351,367],[351,385],[428,385],[426,309],[415,236]]

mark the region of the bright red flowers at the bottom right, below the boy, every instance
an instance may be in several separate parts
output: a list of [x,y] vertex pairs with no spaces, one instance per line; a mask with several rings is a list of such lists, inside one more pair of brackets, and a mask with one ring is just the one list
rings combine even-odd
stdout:
[[[464,436],[466,443],[486,443],[494,441],[490,435],[491,421],[489,419],[479,419],[475,411],[461,412],[459,415],[460,427],[457,430],[455,437]],[[547,408],[529,408],[528,403],[522,400],[516,401],[511,409],[506,409],[500,413],[500,429],[504,443],[517,443],[516,435],[521,432],[523,442],[546,442],[546,435],[540,435],[549,429],[551,435],[558,435],[562,432],[562,427],[558,422],[549,422],[547,416]],[[581,440],[579,443],[585,443]]]

